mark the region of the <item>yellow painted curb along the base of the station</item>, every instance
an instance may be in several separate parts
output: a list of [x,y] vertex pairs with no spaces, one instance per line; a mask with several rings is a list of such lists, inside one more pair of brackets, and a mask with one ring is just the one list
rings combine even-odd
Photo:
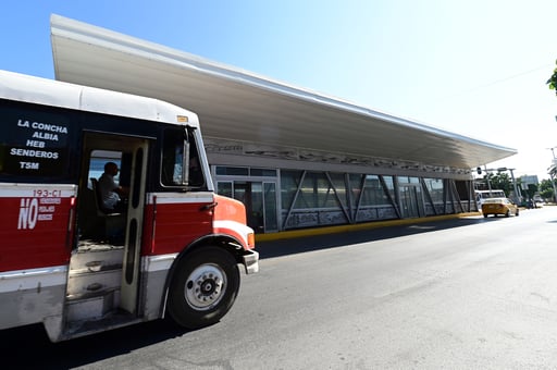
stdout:
[[313,227],[313,229],[304,229],[304,230],[290,230],[290,231],[284,231],[284,232],[278,232],[278,233],[269,233],[269,234],[256,234],[256,245],[258,242],[273,242],[273,240],[289,239],[289,238],[304,237],[304,236],[326,235],[326,234],[347,233],[347,232],[372,230],[372,229],[380,229],[380,227],[410,225],[410,224],[414,224],[414,223],[451,220],[451,219],[459,219],[459,218],[471,217],[471,215],[481,215],[481,214],[482,214],[481,212],[443,214],[443,215],[431,215],[431,217],[418,218],[418,219],[374,221],[374,222],[358,223],[355,225],[325,226],[325,227]]

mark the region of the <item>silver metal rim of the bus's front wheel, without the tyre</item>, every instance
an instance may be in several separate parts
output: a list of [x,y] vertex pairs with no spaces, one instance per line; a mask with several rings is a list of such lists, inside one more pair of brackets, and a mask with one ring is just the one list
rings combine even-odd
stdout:
[[216,264],[202,264],[188,276],[185,286],[186,301],[195,310],[212,308],[226,292],[226,274]]

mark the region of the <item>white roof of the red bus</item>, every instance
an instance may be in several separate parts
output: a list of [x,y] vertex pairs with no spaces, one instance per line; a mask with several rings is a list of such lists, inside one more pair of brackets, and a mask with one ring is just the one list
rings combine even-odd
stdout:
[[0,99],[199,127],[196,113],[161,100],[1,70]]

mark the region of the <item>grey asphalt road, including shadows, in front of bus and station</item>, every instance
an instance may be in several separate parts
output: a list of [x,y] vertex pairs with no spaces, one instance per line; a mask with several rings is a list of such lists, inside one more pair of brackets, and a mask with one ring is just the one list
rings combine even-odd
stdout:
[[556,369],[557,207],[265,243],[218,324],[59,344],[0,332],[13,368]]

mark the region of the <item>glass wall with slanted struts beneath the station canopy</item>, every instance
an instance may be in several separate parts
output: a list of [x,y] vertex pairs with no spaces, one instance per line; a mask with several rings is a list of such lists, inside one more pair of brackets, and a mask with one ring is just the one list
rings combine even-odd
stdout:
[[478,209],[472,181],[220,165],[213,174],[258,233]]

